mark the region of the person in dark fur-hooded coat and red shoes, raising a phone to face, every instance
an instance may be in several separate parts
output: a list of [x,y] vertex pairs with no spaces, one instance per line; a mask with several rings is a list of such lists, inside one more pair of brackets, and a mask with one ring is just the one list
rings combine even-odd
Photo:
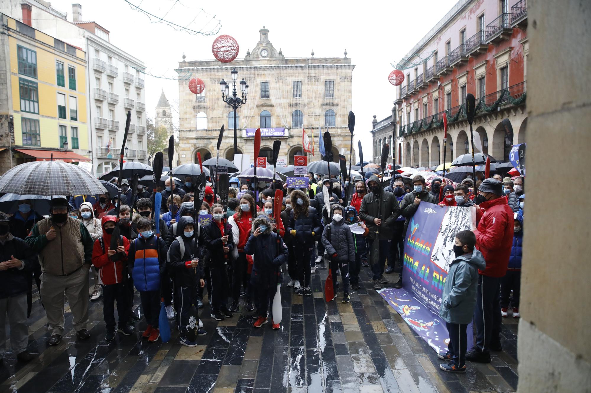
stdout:
[[[280,266],[287,262],[287,246],[280,235],[271,231],[271,221],[260,215],[252,221],[252,232],[244,246],[244,252],[253,256],[251,284],[256,287],[259,297],[258,319],[254,327],[267,323],[269,301],[273,299],[277,284],[281,283]],[[279,323],[272,323],[279,329]]]

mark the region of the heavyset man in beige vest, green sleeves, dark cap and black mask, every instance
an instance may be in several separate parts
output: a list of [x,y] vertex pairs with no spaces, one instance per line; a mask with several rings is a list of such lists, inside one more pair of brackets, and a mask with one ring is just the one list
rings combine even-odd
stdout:
[[79,339],[87,339],[88,271],[92,263],[93,240],[82,222],[69,217],[65,198],[51,200],[51,215],[35,224],[25,239],[39,254],[41,298],[45,306],[51,339],[57,345],[64,332],[64,293],[72,325]]

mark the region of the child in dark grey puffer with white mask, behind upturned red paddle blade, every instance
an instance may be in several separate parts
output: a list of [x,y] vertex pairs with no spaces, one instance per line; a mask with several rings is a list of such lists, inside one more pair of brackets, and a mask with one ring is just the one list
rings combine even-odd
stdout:
[[[349,303],[349,263],[355,263],[355,241],[349,225],[343,220],[343,207],[333,204],[330,207],[331,221],[322,232],[322,244],[330,258],[333,283],[337,283],[336,271],[340,270],[343,280],[343,303]],[[335,290],[335,299],[337,290]]]

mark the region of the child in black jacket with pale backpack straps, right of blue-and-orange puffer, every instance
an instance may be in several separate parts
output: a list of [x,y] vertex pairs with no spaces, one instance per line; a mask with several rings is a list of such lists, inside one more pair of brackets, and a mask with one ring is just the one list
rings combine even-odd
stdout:
[[[178,342],[184,346],[196,346],[197,342],[187,339],[186,326],[191,323],[191,307],[195,314],[199,310],[196,307],[197,286],[203,287],[202,252],[199,243],[195,240],[195,220],[191,217],[181,217],[178,220],[178,228],[182,236],[177,237],[170,245],[168,252],[167,270],[173,277],[174,283],[174,307],[177,311],[177,326],[180,332]],[[181,243],[182,242],[182,243]],[[197,319],[197,318],[196,318]],[[198,320],[192,321],[198,323]],[[207,333],[199,329],[199,336]]]

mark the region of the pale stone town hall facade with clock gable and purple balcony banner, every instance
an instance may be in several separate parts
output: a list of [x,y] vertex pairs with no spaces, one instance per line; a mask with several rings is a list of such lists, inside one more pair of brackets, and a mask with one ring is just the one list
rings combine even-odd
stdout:
[[[316,155],[310,161],[320,159],[318,152],[318,129],[330,131],[333,154],[349,157],[350,133],[347,126],[349,110],[352,109],[351,83],[355,66],[350,58],[314,57],[286,58],[269,42],[268,30],[262,28],[261,39],[246,56],[232,63],[217,60],[183,61],[176,70],[179,74],[178,97],[180,104],[180,163],[193,162],[196,153],[203,159],[216,156],[217,137],[220,127],[225,132],[220,146],[220,156],[233,159],[233,110],[222,101],[220,81],[230,84],[230,71],[236,68],[236,90],[241,91],[238,81],[245,78],[249,85],[246,103],[237,110],[238,153],[249,155],[251,162],[254,138],[246,137],[246,129],[285,128],[284,136],[261,138],[260,156],[271,162],[273,141],[281,140],[280,156],[293,156],[302,152],[302,129],[316,137]],[[189,78],[199,77],[205,83],[205,91],[196,96],[189,90]],[[269,112],[269,117],[265,117]],[[301,115],[300,112],[301,111]],[[263,119],[261,119],[263,117]],[[265,127],[266,126],[266,127]]]

